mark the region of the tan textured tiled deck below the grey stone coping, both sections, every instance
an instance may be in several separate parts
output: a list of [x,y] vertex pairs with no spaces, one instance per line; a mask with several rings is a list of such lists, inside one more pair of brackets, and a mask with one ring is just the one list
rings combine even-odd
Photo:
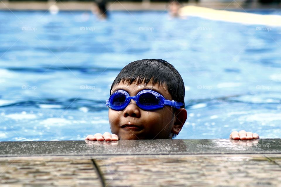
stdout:
[[280,160],[281,154],[1,157],[0,186],[278,187]]

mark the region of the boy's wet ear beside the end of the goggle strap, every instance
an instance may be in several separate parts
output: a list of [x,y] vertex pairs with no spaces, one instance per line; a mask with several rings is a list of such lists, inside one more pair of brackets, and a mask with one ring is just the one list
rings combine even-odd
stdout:
[[175,122],[172,128],[171,133],[178,135],[181,131],[184,123],[187,119],[187,111],[184,108],[180,108],[175,112]]

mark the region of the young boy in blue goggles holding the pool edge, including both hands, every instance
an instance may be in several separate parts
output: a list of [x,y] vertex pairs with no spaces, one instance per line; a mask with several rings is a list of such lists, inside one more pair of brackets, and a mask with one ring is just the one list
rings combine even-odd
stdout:
[[[112,134],[97,133],[85,140],[172,139],[187,118],[181,75],[161,59],[137,60],[126,65],[112,83],[106,105]],[[259,136],[234,131],[230,138],[251,140]]]

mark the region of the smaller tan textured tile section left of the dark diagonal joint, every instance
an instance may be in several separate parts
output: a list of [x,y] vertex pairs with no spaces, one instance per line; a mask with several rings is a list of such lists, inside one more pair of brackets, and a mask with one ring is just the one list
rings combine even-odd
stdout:
[[90,159],[0,159],[0,186],[101,186]]

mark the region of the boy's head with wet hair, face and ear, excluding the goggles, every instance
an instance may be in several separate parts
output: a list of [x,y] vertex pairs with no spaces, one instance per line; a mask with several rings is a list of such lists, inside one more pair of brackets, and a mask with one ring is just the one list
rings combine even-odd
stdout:
[[149,89],[166,100],[183,103],[180,109],[164,106],[157,110],[142,110],[131,100],[124,110],[109,108],[109,123],[120,139],[167,139],[176,136],[187,118],[184,109],[184,82],[179,72],[161,59],[137,60],[126,65],[115,78],[110,95],[118,90],[136,96]]

